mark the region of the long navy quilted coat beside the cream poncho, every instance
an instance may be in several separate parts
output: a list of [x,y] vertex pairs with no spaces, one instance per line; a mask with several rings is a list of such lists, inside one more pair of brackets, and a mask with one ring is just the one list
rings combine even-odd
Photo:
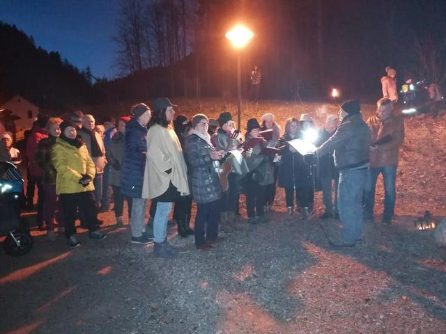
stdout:
[[146,166],[147,128],[132,118],[125,125],[123,164],[121,168],[121,193],[141,198]]

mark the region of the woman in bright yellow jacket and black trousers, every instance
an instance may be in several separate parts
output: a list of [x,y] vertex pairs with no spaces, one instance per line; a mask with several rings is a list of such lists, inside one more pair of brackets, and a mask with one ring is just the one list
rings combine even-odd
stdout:
[[61,200],[65,220],[65,236],[68,246],[80,246],[77,241],[75,220],[77,207],[86,217],[89,239],[100,240],[105,233],[99,231],[96,218],[93,178],[95,164],[90,157],[82,138],[77,136],[76,125],[70,121],[62,122],[61,136],[52,147],[52,163],[57,172],[56,193]]

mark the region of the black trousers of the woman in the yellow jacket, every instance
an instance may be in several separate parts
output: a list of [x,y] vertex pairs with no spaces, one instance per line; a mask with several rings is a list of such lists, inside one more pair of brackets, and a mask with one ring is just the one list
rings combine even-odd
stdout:
[[99,229],[98,220],[96,219],[94,191],[61,193],[59,200],[61,201],[63,218],[65,219],[65,236],[67,238],[76,234],[77,207],[79,207],[79,212],[84,216],[89,231],[94,232]]

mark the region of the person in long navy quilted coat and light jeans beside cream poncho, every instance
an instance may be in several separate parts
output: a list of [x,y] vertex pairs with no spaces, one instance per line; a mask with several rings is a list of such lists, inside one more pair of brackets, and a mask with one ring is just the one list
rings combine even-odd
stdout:
[[144,103],[132,106],[133,118],[125,127],[124,157],[121,169],[121,192],[132,198],[132,244],[148,244],[146,232],[146,202],[142,198],[142,183],[147,153],[147,124],[151,109]]

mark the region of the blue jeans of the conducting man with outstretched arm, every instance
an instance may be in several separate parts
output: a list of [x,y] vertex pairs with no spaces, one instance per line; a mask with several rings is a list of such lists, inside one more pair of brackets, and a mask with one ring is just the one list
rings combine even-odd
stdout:
[[338,209],[341,237],[346,244],[355,244],[362,234],[362,196],[367,183],[367,168],[339,172]]

